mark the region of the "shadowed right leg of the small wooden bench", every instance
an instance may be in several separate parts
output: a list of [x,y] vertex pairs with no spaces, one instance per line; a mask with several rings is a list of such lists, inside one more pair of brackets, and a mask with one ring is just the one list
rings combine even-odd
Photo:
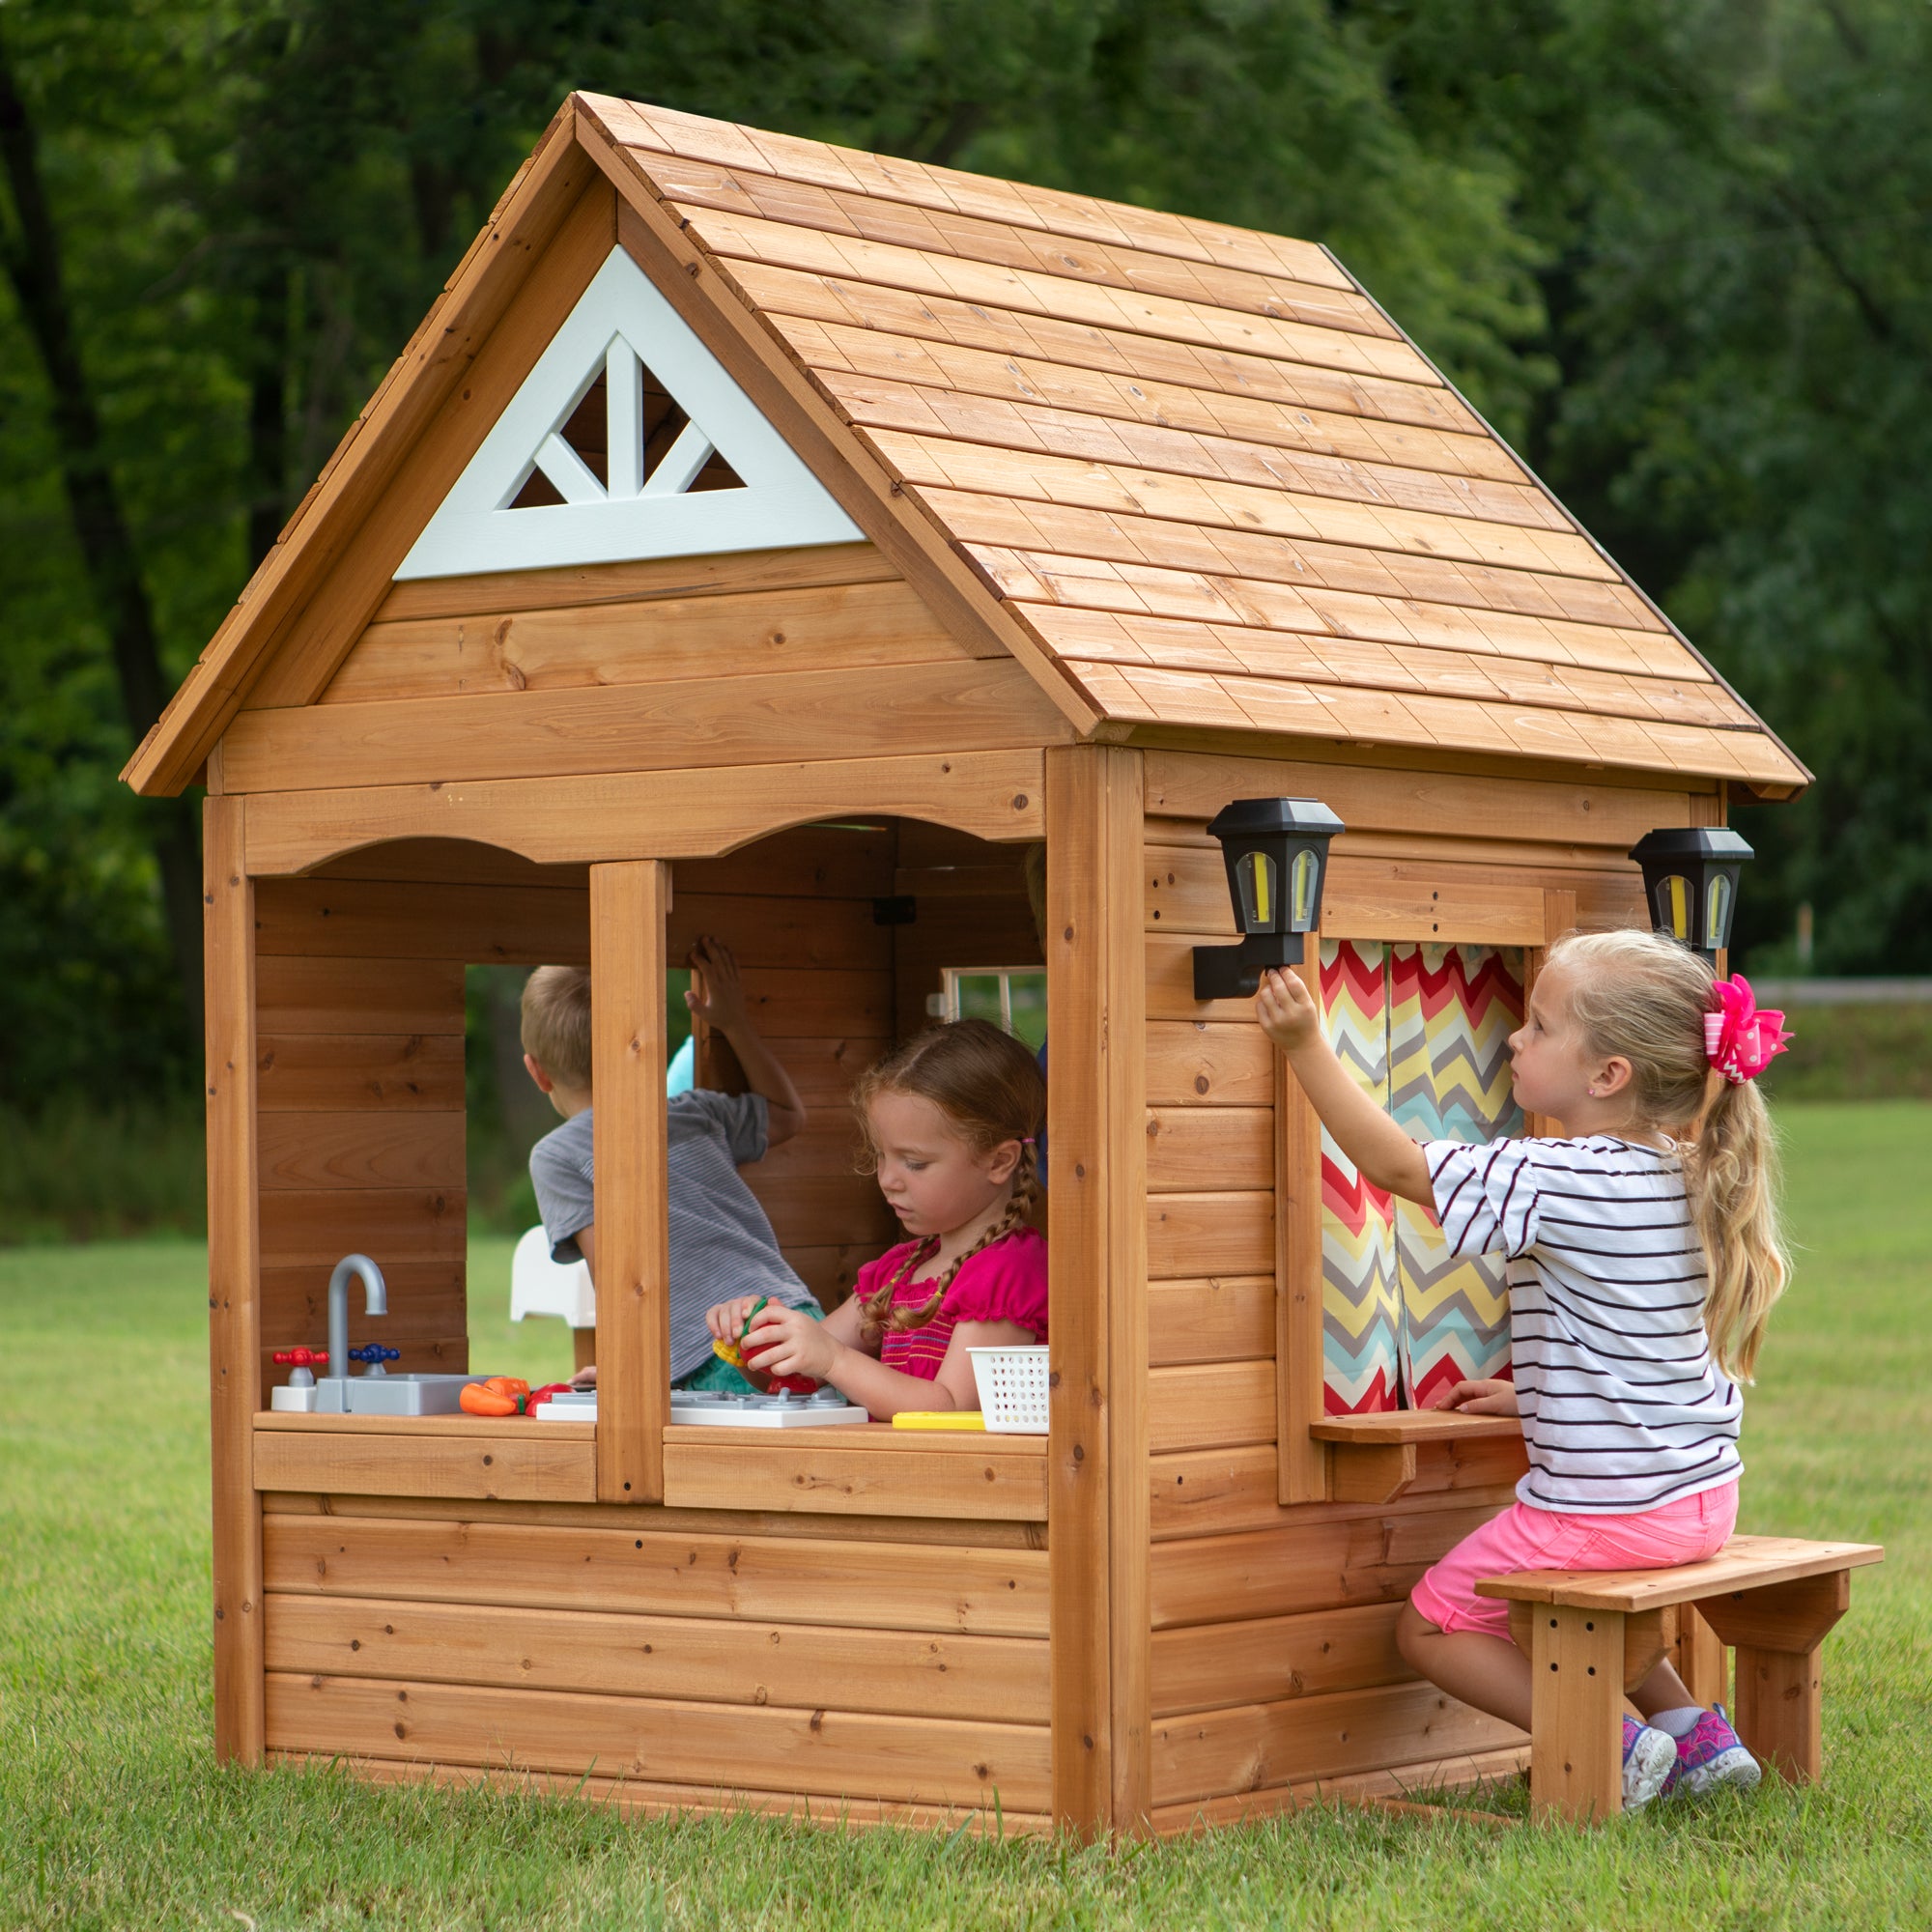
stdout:
[[1737,1650],[1737,1735],[1760,1764],[1793,1783],[1824,1770],[1818,1650],[1849,1607],[1851,1571],[1698,1604],[1718,1640]]

